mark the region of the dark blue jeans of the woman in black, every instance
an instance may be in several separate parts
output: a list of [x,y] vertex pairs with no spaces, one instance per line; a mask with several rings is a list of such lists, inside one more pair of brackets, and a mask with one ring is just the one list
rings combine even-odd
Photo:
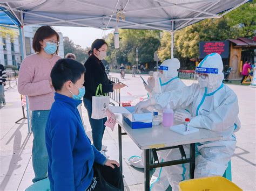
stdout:
[[87,110],[89,122],[92,128],[92,140],[93,145],[97,148],[97,150],[102,150],[102,138],[105,131],[105,122],[107,118],[103,119],[92,119],[92,101],[84,98],[84,107]]

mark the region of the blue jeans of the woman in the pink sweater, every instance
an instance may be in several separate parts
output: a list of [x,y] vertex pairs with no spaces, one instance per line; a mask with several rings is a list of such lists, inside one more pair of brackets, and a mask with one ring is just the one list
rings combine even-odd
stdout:
[[48,153],[45,144],[45,126],[50,110],[32,111],[33,148],[32,164],[35,172],[33,183],[47,178]]

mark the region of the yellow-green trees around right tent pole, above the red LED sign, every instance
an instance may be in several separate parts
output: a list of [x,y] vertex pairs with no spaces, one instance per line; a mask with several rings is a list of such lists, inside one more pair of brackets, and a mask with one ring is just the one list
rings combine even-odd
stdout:
[[[174,35],[174,57],[188,62],[198,58],[200,41],[220,41],[231,38],[255,36],[256,6],[246,3],[223,18],[206,19],[177,31]],[[158,55],[161,61],[171,57],[171,34],[164,32]]]

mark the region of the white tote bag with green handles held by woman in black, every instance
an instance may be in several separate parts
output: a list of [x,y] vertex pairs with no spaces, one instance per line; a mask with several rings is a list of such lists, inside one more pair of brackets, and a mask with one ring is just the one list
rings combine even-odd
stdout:
[[[92,119],[102,119],[106,117],[106,109],[109,107],[109,96],[98,95],[102,93],[102,84],[97,87],[95,96],[92,96]],[[103,93],[102,93],[103,94]]]

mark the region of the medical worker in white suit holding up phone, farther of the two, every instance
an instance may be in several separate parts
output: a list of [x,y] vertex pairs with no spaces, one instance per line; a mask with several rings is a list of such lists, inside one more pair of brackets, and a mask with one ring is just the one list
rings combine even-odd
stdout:
[[[180,62],[177,58],[172,58],[165,60],[161,65],[159,66],[159,73],[157,75],[157,78],[154,79],[154,77],[149,77],[147,80],[148,84],[144,84],[145,89],[149,93],[149,95],[154,94],[154,86],[160,86],[160,89],[162,93],[171,91],[171,90],[180,90],[186,85],[183,81],[181,81],[178,78],[178,69],[180,68]],[[156,80],[159,81],[159,83],[156,83]],[[156,109],[159,109],[161,111],[161,107],[157,107]],[[191,115],[189,111],[185,109],[176,109],[174,110],[175,115],[174,117],[177,118],[174,121],[174,124],[181,124],[185,122],[185,119],[182,119],[181,116],[185,116],[186,118],[191,118]],[[159,160],[167,161],[166,155],[170,152],[170,150],[165,151],[158,151],[158,157]],[[129,159],[129,162],[132,166],[137,168],[144,168],[144,154],[142,153],[142,156],[132,156]],[[160,176],[159,176],[160,175]],[[167,174],[162,168],[157,168],[156,172],[153,174],[151,179],[151,190],[159,190],[159,189],[167,189],[169,187],[169,181],[167,179]]]

